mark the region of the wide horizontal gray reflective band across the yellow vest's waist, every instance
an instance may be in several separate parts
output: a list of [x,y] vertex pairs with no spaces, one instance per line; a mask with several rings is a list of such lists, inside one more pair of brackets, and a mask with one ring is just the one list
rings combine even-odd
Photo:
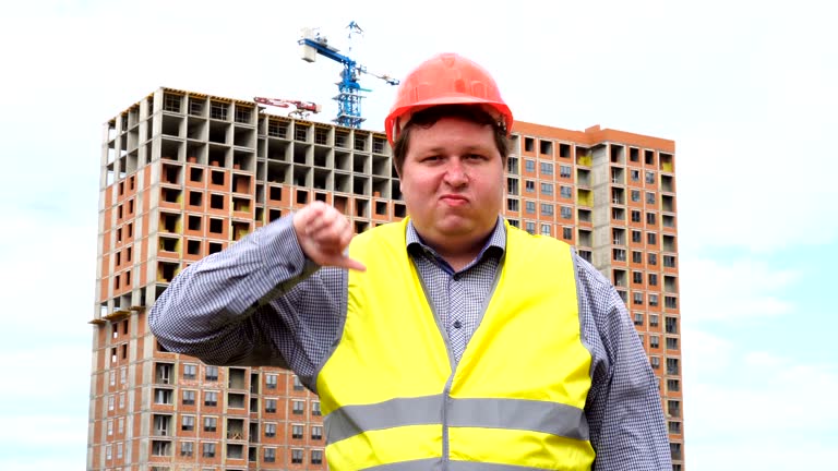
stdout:
[[[426,396],[343,407],[325,416],[326,440],[333,444],[373,430],[442,424],[442,396]],[[445,422],[451,427],[514,428],[588,439],[585,414],[572,406],[523,399],[454,398],[448,398],[446,406]]]

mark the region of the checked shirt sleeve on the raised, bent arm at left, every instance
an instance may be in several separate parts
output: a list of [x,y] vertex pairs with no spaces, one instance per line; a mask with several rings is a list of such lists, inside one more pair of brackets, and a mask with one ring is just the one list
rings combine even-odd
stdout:
[[306,384],[345,311],[346,271],[309,261],[288,216],[181,271],[148,326],[169,351],[207,364],[289,367]]

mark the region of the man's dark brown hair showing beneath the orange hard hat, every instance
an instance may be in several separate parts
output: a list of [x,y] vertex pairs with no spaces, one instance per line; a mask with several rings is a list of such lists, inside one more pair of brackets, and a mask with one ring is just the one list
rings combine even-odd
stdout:
[[393,164],[396,172],[402,176],[402,167],[405,164],[407,150],[410,148],[410,131],[414,128],[431,128],[436,121],[443,118],[460,118],[476,124],[489,125],[494,132],[494,145],[501,154],[503,168],[506,168],[506,157],[508,156],[510,140],[506,136],[506,128],[499,123],[481,107],[475,105],[440,105],[417,111],[410,117],[407,125],[402,130],[393,145]]

